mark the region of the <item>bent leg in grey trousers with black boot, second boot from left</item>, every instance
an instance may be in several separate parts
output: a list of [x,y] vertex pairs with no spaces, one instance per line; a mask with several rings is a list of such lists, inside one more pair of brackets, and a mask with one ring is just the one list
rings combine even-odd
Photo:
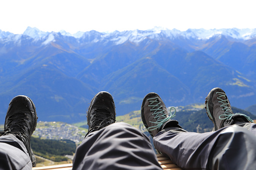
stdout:
[[161,169],[148,137],[126,123],[115,122],[115,105],[98,93],[88,109],[89,131],[77,147],[73,169]]

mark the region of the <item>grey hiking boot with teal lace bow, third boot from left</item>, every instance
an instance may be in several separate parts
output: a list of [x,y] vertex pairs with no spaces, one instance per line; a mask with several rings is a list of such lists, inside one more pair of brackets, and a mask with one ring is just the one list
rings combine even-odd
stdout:
[[[172,109],[175,107],[171,107]],[[148,93],[142,102],[141,105],[141,119],[145,127],[147,128],[149,134],[154,137],[160,130],[165,128],[168,123],[169,126],[175,126],[182,128],[178,125],[178,121],[170,120],[176,114],[170,113],[170,117],[168,116],[167,109],[160,98],[160,96],[156,93]]]

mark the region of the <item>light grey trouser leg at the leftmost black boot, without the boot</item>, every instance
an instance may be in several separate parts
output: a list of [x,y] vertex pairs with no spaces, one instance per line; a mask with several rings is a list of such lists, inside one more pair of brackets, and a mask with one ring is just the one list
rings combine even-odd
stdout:
[[0,136],[0,169],[32,169],[25,145],[12,134]]

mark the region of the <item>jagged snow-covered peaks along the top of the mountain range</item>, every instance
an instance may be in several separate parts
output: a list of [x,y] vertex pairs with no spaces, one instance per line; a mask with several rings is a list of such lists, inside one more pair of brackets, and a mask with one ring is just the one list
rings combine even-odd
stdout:
[[[116,41],[116,45],[122,44],[125,41],[129,40],[131,42],[141,42],[145,39],[145,37],[149,37],[150,39],[176,39],[176,38],[185,38],[185,39],[210,39],[212,37],[219,37],[224,35],[229,38],[237,39],[237,40],[250,40],[256,37],[256,29],[188,29],[187,31],[179,31],[177,29],[168,30],[160,27],[155,27],[149,30],[131,30],[131,31],[114,31],[110,33],[101,33],[95,30],[89,32],[77,32],[75,34],[70,34],[61,30],[59,32],[43,32],[37,28],[28,27],[23,34],[28,37],[31,37],[36,40],[45,39],[47,36],[52,34],[60,34],[66,37],[73,37],[75,39],[87,39],[89,42],[97,43],[98,41],[104,41],[105,38],[111,39],[111,41]],[[17,35],[4,32],[0,30],[0,38],[10,38],[15,37]],[[15,37],[17,39],[17,37]]]

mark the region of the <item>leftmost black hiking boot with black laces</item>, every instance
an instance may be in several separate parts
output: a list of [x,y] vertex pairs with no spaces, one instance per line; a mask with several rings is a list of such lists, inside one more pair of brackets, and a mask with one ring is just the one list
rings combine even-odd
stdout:
[[37,124],[36,107],[27,96],[14,97],[7,110],[5,130],[0,136],[13,134],[26,146],[32,165],[36,166],[36,158],[30,146],[30,138]]

